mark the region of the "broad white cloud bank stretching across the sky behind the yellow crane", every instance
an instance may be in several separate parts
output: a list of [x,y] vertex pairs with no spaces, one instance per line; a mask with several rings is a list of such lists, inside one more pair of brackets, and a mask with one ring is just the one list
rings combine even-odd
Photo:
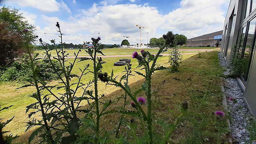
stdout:
[[[36,33],[44,38],[46,32],[48,39],[56,38],[58,41],[55,26],[58,21],[62,33],[65,34],[64,41],[73,44],[90,41],[91,37],[98,36],[98,32],[103,44],[120,44],[125,35],[129,36],[125,39],[131,44],[137,44],[140,41],[140,30],[135,24],[154,29],[142,29],[142,43],[147,43],[147,32],[148,40],[152,37],[159,38],[167,31],[191,38],[221,30],[225,20],[223,16],[225,11],[221,10],[221,7],[223,5],[228,7],[226,5],[228,0],[183,0],[180,8],[163,15],[156,7],[148,6],[148,3],[108,5],[107,0],[101,2],[94,3],[89,9],[80,10],[80,15],[70,16],[68,20],[41,15],[41,23],[46,26],[37,27]],[[112,1],[112,3],[117,2],[117,0]],[[35,16],[30,15],[30,19],[33,23]]]

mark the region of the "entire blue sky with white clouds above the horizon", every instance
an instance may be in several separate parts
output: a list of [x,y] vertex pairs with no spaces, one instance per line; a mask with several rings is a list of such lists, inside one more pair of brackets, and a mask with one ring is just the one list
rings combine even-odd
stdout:
[[[167,31],[188,38],[219,31],[228,10],[229,0],[2,0],[0,6],[20,9],[36,26],[36,34],[45,41],[58,40],[56,21],[60,22],[66,43],[82,44],[97,37],[103,44],[120,44],[130,36],[130,44],[159,38]],[[147,37],[148,32],[148,37]]]

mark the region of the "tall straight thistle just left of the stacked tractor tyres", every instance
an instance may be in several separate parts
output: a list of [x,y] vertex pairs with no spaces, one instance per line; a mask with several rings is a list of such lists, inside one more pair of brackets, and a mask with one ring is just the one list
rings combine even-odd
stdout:
[[[104,55],[102,53],[103,50],[103,45],[99,43],[100,37],[98,38],[92,38],[92,44],[93,48],[89,48],[88,50],[85,50],[88,54],[89,57],[87,58],[81,58],[80,61],[84,60],[92,60],[93,61],[93,70],[89,71],[93,74],[93,80],[92,83],[94,84],[94,91],[87,91],[87,95],[89,98],[93,101],[90,102],[88,101],[89,104],[89,110],[88,113],[85,116],[85,123],[84,126],[87,127],[87,129],[91,129],[94,131],[94,133],[88,133],[87,135],[81,134],[81,137],[79,139],[80,143],[87,143],[87,142],[92,142],[92,143],[102,143],[102,141],[106,142],[107,136],[106,133],[104,133],[103,128],[100,129],[100,117],[103,115],[109,114],[109,113],[114,113],[115,111],[107,111],[107,108],[113,103],[112,100],[102,102],[100,99],[104,98],[103,95],[99,95],[98,93],[98,78],[102,82],[108,82],[108,74],[107,73],[102,73],[102,64],[106,63],[105,61],[102,60],[101,57],[98,57],[98,53]],[[89,43],[88,43],[89,44]],[[124,77],[123,77],[124,78]],[[102,105],[100,105],[102,103]],[[89,123],[89,124],[88,124]],[[100,132],[103,134],[101,135]]]

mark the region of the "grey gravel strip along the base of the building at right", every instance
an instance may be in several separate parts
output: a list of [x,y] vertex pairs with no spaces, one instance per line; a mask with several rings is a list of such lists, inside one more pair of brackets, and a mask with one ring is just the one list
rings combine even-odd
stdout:
[[[221,53],[219,55],[220,65],[223,68],[227,68],[226,61]],[[234,144],[245,144],[249,141],[249,132],[246,129],[246,121],[250,113],[243,100],[243,92],[240,89],[236,79],[228,77],[224,78],[224,89],[227,98],[228,112],[230,116],[230,126],[232,140]],[[236,98],[237,103],[233,103],[229,98]],[[254,142],[256,144],[256,142]]]

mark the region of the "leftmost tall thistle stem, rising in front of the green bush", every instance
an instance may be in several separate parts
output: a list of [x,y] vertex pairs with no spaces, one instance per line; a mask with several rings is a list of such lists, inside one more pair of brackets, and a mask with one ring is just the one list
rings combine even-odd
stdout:
[[[31,140],[34,138],[34,136],[39,132],[39,131],[44,131],[44,135],[42,137],[48,137],[48,139],[44,139],[45,141],[47,141],[48,143],[53,143],[53,138],[52,138],[52,134],[51,134],[51,131],[50,131],[50,127],[49,127],[49,120],[47,120],[47,116],[46,116],[46,109],[47,108],[50,108],[46,105],[46,101],[48,101],[49,99],[47,99],[45,96],[42,100],[42,86],[39,86],[39,80],[40,80],[40,77],[38,77],[38,68],[40,67],[40,65],[36,65],[36,60],[38,60],[37,56],[38,54],[36,55],[33,55],[32,54],[32,47],[31,47],[31,42],[33,42],[33,40],[35,40],[35,38],[37,38],[38,36],[31,36],[31,35],[28,35],[29,31],[28,29],[24,29],[22,32],[21,32],[25,38],[25,48],[27,50],[27,53],[29,55],[29,59],[28,59],[28,65],[29,65],[29,68],[32,69],[32,78],[29,78],[27,79],[27,81],[30,83],[28,85],[24,85],[22,87],[28,87],[28,86],[34,86],[36,87],[36,92],[29,95],[29,97],[32,97],[32,98],[35,98],[37,100],[37,102],[27,106],[27,110],[26,110],[26,113],[28,112],[29,109],[36,109],[36,111],[33,111],[31,112],[28,117],[30,118],[32,115],[36,114],[37,112],[41,112],[41,116],[42,116],[42,119],[41,120],[36,120],[33,119],[32,121],[29,121],[27,124],[28,124],[28,128],[31,128],[32,126],[40,126],[39,128],[36,129],[36,131],[34,131],[31,136],[29,137],[29,140],[28,142],[30,143]],[[21,87],[21,88],[22,88]],[[26,130],[26,131],[27,131]]]

